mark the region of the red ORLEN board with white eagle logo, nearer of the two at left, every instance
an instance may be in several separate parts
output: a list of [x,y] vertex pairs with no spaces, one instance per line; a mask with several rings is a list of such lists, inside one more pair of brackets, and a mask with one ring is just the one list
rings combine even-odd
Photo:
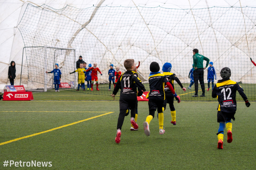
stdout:
[[4,92],[3,100],[13,101],[13,100],[34,100],[31,91],[25,92]]

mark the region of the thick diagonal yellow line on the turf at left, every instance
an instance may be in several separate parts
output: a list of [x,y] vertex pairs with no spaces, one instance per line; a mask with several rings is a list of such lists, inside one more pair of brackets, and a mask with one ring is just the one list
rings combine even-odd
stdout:
[[94,118],[97,118],[97,117],[100,117],[100,116],[107,115],[107,114],[110,114],[110,113],[114,113],[114,112],[104,113],[104,114],[101,114],[101,115],[98,115],[98,116],[90,117],[88,119],[80,120],[78,122],[73,122],[73,123],[70,123],[70,124],[67,124],[67,125],[63,125],[63,126],[56,127],[56,128],[53,128],[53,129],[49,129],[49,130],[46,130],[46,131],[42,131],[42,132],[39,132],[39,133],[34,133],[32,135],[28,135],[28,136],[24,136],[24,137],[21,137],[21,138],[16,138],[16,139],[13,139],[13,140],[2,142],[2,143],[0,143],[0,145],[4,145],[4,144],[7,144],[7,143],[18,141],[20,139],[25,139],[25,138],[29,138],[29,137],[32,137],[32,136],[40,135],[42,133],[50,132],[50,131],[53,131],[53,130],[56,130],[56,129],[60,129],[60,128],[63,128],[63,127],[71,126],[71,125],[74,125],[74,124],[77,124],[77,123],[81,123],[81,122],[84,122],[84,121],[87,121],[87,120],[90,120],[90,119],[94,119]]

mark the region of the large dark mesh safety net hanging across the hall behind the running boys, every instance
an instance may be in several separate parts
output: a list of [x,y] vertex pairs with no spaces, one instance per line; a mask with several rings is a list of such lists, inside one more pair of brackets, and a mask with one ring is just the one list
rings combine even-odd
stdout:
[[[147,91],[149,65],[153,61],[158,62],[160,68],[166,62],[171,63],[171,72],[187,88],[190,84],[188,74],[193,64],[192,50],[197,48],[199,54],[213,62],[217,80],[221,79],[221,68],[229,67],[232,72],[231,80],[240,82],[248,98],[255,100],[256,67],[250,60],[256,60],[255,18],[254,7],[168,9],[92,6],[77,9],[66,6],[53,9],[46,5],[35,7],[28,4],[18,28],[25,46],[51,46],[60,49],[47,49],[47,69],[52,70],[54,64],[58,63],[62,72],[61,82],[77,83],[69,72],[74,71],[80,55],[87,67],[96,62],[103,74],[98,74],[100,91],[82,91],[83,93],[111,94],[113,84],[111,91],[108,91],[110,64],[114,65],[114,69],[119,66],[120,71],[125,72],[123,62],[128,58],[134,59],[137,65],[140,61],[137,72]],[[61,48],[75,49],[75,58],[74,50],[66,55],[67,51]],[[32,63],[28,67],[28,81],[34,84],[31,88],[35,84],[46,84],[44,63],[38,61],[38,58],[44,60],[43,53],[44,48],[37,52],[26,48],[27,63]],[[63,58],[65,64],[62,65]],[[31,74],[34,74],[34,78]],[[47,76],[47,87],[52,87],[51,77],[49,74]],[[207,89],[207,69],[204,71],[204,81]],[[175,87],[182,100],[198,100],[191,97],[194,85],[186,92],[177,83]],[[200,90],[199,85],[198,93]],[[204,100],[213,100],[211,83],[206,96]]]

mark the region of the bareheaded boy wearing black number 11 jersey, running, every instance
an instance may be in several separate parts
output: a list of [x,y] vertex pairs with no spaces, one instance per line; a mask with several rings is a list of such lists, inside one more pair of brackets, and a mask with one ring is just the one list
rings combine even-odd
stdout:
[[146,91],[140,79],[138,79],[138,73],[135,72],[136,66],[134,59],[126,59],[124,61],[124,67],[127,71],[124,72],[116,82],[116,86],[112,94],[112,97],[114,97],[118,90],[121,89],[119,99],[120,113],[115,138],[116,143],[120,142],[121,128],[124,122],[126,110],[129,108],[131,110],[131,124],[133,125],[134,129],[138,129],[138,125],[134,120],[136,113],[137,87],[138,91],[140,91],[140,95],[142,95],[142,91]]

